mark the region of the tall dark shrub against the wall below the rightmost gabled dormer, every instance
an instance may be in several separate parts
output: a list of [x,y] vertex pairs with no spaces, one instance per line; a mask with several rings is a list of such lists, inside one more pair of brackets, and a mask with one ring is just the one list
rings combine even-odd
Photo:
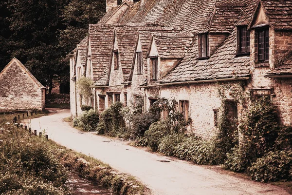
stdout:
[[273,149],[279,129],[276,109],[268,99],[252,103],[247,121],[240,128],[244,143],[241,148],[251,163]]

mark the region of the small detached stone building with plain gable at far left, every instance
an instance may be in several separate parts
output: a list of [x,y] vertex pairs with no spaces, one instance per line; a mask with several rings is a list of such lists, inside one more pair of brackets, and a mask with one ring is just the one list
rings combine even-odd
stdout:
[[16,58],[0,73],[0,112],[44,110],[46,88]]

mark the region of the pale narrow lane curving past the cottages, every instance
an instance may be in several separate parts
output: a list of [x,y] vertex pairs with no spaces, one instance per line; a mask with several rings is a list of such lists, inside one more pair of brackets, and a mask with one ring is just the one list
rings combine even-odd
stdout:
[[63,121],[70,116],[69,110],[49,110],[53,114],[32,119],[28,125],[33,130],[45,130],[50,139],[61,145],[137,177],[154,195],[289,195],[273,185],[220,174],[205,166],[148,153],[122,141],[79,132]]

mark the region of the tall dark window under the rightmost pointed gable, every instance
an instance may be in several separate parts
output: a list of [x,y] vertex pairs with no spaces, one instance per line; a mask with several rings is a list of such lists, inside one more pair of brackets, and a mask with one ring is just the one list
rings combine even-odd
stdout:
[[257,58],[259,62],[268,62],[270,53],[270,38],[269,29],[257,31],[258,35],[258,48]]

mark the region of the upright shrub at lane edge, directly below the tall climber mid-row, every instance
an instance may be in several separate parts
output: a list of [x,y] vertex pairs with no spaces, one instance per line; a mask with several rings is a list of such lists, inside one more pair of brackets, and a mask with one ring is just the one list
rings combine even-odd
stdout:
[[157,151],[161,138],[169,133],[169,130],[165,129],[164,121],[154,122],[150,125],[149,130],[145,132],[145,137],[153,152]]

